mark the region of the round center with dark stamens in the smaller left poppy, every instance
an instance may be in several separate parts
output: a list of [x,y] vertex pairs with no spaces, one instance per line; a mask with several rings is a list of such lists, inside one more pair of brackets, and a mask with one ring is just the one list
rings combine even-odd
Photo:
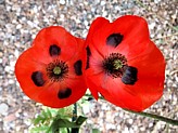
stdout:
[[55,59],[54,62],[47,65],[47,76],[52,82],[62,81],[67,77],[68,66],[65,62]]

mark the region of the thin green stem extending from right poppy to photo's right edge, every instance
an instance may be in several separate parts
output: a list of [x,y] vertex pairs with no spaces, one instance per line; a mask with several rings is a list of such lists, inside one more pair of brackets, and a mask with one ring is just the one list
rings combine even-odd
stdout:
[[153,114],[149,114],[149,112],[143,112],[143,111],[137,112],[137,111],[132,111],[132,110],[128,110],[128,109],[124,109],[124,110],[132,112],[132,114],[140,115],[140,116],[143,116],[143,117],[149,117],[149,118],[153,118],[153,119],[156,119],[156,120],[160,120],[160,121],[164,121],[164,122],[169,123],[169,124],[178,125],[178,120],[173,120],[173,119],[169,119],[169,118],[166,118],[166,117],[162,117],[162,116],[153,115]]

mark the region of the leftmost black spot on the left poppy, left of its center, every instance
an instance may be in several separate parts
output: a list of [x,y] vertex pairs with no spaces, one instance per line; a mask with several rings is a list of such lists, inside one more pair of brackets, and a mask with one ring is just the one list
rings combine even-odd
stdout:
[[42,72],[40,71],[35,71],[33,72],[31,75],[31,80],[34,81],[34,83],[37,85],[37,87],[42,87],[44,84],[44,80],[42,78]]

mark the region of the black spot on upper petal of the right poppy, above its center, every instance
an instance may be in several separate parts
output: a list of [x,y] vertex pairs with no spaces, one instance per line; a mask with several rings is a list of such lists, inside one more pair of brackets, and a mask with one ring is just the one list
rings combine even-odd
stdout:
[[120,34],[112,34],[106,38],[106,44],[116,48],[122,41],[124,36]]

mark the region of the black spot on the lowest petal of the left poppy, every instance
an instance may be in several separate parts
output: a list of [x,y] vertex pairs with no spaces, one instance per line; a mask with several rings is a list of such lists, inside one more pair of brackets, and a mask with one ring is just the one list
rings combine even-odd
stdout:
[[63,89],[63,90],[60,90],[59,93],[58,93],[58,97],[60,99],[63,99],[63,98],[67,98],[69,97],[72,94],[72,90],[69,88],[66,88],[66,89]]

